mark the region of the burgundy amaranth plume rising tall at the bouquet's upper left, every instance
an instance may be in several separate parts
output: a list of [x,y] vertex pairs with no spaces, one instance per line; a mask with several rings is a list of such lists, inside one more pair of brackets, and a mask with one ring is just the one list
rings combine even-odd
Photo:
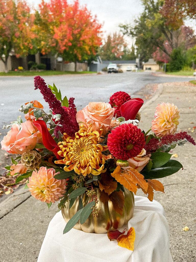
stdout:
[[[62,126],[57,126],[55,128],[54,134],[57,136],[58,131],[62,134],[67,133],[70,136],[74,136],[75,132],[79,130],[78,124],[76,124],[76,116],[72,112],[71,114],[64,110],[61,106],[61,102],[56,99],[55,95],[52,93],[51,89],[48,88],[43,78],[40,76],[34,77],[34,86],[35,89],[39,89],[41,94],[44,97],[44,100],[49,104],[50,109],[54,112],[54,114],[60,114],[61,118],[59,124]],[[72,108],[75,108],[73,103],[73,97],[71,98],[70,105]],[[73,110],[73,109],[72,109]]]

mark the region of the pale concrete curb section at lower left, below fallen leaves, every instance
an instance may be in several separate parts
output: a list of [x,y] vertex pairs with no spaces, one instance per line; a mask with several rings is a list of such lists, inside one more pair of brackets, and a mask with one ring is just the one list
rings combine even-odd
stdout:
[[13,194],[7,196],[7,198],[0,203],[0,219],[3,216],[6,216],[13,209],[17,208],[17,206],[22,204],[30,196],[31,192],[24,189],[24,185],[18,188]]

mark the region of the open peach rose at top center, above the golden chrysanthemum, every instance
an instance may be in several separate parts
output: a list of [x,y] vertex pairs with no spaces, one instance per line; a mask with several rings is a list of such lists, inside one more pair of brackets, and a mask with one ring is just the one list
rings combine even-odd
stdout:
[[114,108],[109,103],[91,102],[76,114],[79,125],[85,127],[93,125],[93,131],[103,129],[103,135],[110,130],[110,123],[114,115]]

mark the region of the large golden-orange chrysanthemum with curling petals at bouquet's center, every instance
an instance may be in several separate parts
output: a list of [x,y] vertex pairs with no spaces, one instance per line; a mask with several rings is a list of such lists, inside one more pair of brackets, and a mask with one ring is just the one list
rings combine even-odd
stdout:
[[107,146],[99,144],[101,133],[102,129],[92,132],[92,126],[86,128],[83,125],[75,133],[74,138],[64,133],[64,141],[58,143],[61,149],[58,154],[64,159],[55,161],[55,163],[65,164],[65,171],[74,170],[83,176],[87,176],[87,174],[99,175],[105,172],[105,159],[112,156],[102,154],[102,151],[107,150]]

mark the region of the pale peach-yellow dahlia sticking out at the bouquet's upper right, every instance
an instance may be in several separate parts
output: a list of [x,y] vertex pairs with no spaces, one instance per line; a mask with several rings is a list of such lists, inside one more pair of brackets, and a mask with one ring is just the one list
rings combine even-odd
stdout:
[[152,131],[157,137],[173,135],[177,130],[180,118],[177,106],[170,103],[161,103],[156,107]]

